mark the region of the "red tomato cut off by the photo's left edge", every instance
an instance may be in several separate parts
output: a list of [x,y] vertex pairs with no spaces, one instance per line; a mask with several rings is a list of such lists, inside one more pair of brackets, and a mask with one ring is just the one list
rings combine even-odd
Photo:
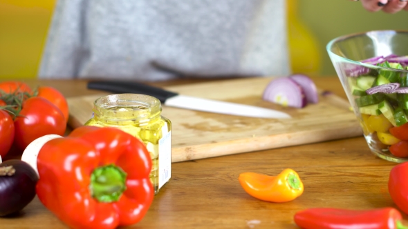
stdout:
[[0,156],[7,155],[14,140],[15,127],[12,117],[5,110],[0,110]]

